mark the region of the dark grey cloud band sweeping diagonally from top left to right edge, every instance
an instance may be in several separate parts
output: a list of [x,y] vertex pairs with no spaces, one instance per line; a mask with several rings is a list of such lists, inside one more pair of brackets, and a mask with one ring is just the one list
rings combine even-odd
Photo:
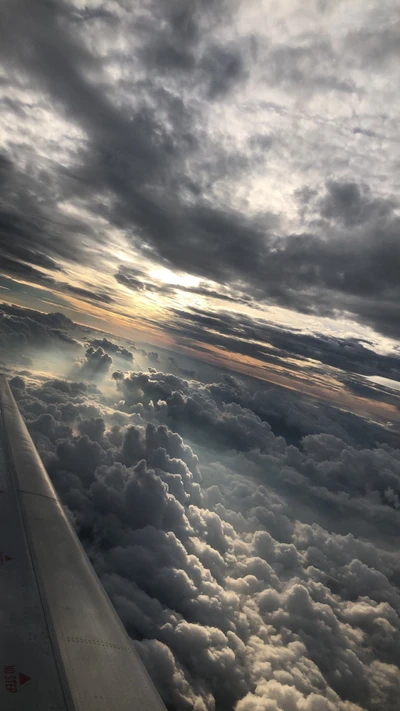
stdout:
[[[159,79],[163,68],[172,71],[174,66],[171,77],[179,86],[186,81],[179,67],[192,57],[193,71],[208,77],[209,95],[217,97],[232,81],[241,81],[248,48],[214,46],[207,54],[204,47],[198,49],[206,41],[207,23],[223,20],[222,4],[196,3],[185,9],[181,3],[152,4],[153,14],[141,20],[143,52],[138,55],[152,72],[146,71],[136,87],[133,115],[108,97],[101,81],[88,78],[98,64],[72,32],[66,6],[38,3],[33,13],[29,3],[19,0],[3,8],[5,61],[29,72],[88,136],[71,177],[72,183],[78,181],[77,193],[88,204],[93,191],[115,196],[114,207],[100,209],[128,234],[135,225],[132,239],[147,256],[221,285],[240,283],[240,290],[257,302],[318,315],[348,311],[378,331],[397,333],[399,218],[391,201],[373,197],[362,186],[330,182],[320,198],[318,230],[287,236],[279,234],[276,216],[250,218],[219,205],[200,184],[194,186],[195,199],[183,197],[193,182],[185,174],[185,160],[198,150],[192,109],[174,101]],[[79,23],[79,13],[74,21]],[[21,41],[10,42],[16,34]],[[297,61],[294,51],[285,50],[290,66]],[[322,54],[327,51],[320,48]],[[305,56],[308,50],[297,48],[295,58],[296,52],[306,64],[311,62],[311,54]],[[284,69],[285,63],[277,61],[276,66]],[[150,97],[158,112],[149,110]],[[66,249],[66,240],[59,241]],[[120,273],[119,281],[127,283],[127,278]],[[142,288],[140,282],[132,277],[128,285]]]

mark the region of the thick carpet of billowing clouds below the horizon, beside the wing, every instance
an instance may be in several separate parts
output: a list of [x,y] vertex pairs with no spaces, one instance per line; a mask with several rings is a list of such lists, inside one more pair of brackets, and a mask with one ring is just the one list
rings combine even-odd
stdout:
[[12,387],[166,704],[396,711],[400,450],[229,376],[121,375],[113,408],[94,385]]

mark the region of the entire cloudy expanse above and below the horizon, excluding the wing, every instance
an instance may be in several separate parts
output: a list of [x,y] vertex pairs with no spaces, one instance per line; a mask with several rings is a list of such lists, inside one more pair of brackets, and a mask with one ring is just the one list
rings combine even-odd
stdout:
[[168,711],[397,711],[399,47],[1,3],[0,367]]

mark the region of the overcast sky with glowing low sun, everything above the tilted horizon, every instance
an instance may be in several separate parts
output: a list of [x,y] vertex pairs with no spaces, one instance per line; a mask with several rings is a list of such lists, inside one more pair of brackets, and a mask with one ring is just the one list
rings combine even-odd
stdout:
[[346,407],[343,359],[396,380],[399,40],[397,0],[3,2],[4,300]]

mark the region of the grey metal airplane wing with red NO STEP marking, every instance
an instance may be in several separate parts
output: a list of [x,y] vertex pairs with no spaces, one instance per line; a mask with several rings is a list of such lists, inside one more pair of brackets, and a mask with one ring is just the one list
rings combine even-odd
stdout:
[[0,376],[0,709],[165,711]]

